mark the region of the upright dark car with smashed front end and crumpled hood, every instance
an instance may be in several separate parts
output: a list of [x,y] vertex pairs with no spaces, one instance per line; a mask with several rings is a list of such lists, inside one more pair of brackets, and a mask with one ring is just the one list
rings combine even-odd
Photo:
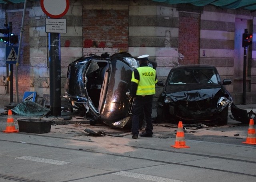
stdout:
[[158,99],[156,122],[208,123],[225,125],[228,108],[232,104],[230,93],[221,82],[212,65],[184,65],[170,70],[162,94]]

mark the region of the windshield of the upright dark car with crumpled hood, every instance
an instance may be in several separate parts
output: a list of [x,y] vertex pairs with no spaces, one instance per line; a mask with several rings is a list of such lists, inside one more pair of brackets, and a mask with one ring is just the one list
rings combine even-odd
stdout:
[[213,69],[191,68],[174,70],[168,84],[218,84],[217,75]]

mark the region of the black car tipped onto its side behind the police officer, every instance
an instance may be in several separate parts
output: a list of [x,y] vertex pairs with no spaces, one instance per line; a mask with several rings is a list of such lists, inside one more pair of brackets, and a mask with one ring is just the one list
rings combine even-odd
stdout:
[[[130,83],[132,71],[138,66],[136,57],[129,53],[81,57],[68,66],[62,97],[90,117],[90,124],[103,122],[115,128],[130,128],[133,103]],[[142,115],[140,126],[143,119]]]

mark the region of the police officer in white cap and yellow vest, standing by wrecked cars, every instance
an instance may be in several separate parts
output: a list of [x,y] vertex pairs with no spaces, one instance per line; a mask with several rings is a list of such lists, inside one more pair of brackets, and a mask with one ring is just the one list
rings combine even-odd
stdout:
[[152,101],[156,93],[157,82],[156,70],[148,66],[148,56],[139,56],[140,67],[132,72],[131,96],[134,99],[132,107],[132,138],[138,139],[140,115],[144,115],[146,121],[146,132],[140,137],[152,137]]

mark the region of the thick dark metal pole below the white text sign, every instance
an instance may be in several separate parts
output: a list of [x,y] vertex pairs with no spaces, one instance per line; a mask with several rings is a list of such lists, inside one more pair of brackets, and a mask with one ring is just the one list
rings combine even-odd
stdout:
[[60,33],[49,33],[50,110],[61,115]]

